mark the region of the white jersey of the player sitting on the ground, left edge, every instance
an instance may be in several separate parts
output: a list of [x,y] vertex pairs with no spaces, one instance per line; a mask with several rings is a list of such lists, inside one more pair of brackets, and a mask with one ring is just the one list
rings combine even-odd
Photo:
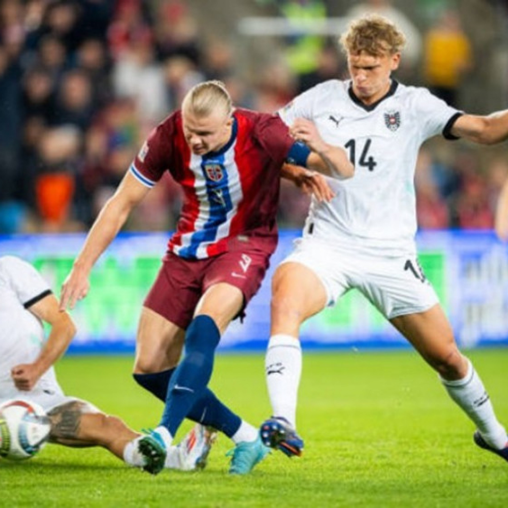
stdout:
[[[13,256],[0,257],[0,398],[12,393],[11,368],[37,359],[44,343],[42,322],[27,307],[51,290],[39,272]],[[53,367],[45,372],[36,389],[56,383]]]

